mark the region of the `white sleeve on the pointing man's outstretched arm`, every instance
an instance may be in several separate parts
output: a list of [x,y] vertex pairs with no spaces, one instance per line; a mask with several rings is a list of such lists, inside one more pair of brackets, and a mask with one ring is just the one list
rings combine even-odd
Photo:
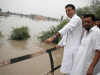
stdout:
[[61,36],[64,36],[65,34],[68,33],[68,31],[74,31],[76,26],[78,25],[79,18],[73,18],[69,23],[67,23],[61,30],[58,32],[61,34]]

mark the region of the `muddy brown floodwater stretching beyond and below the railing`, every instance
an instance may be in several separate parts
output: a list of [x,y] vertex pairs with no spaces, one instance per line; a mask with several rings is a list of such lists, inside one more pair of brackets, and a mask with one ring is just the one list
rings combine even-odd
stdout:
[[[24,56],[27,54],[44,51],[54,47],[55,44],[43,44],[38,39],[41,31],[50,29],[60,22],[39,21],[19,16],[0,17],[0,31],[4,35],[0,38],[0,61]],[[27,26],[29,28],[30,38],[23,41],[9,40],[13,27]],[[53,51],[54,66],[61,64],[63,49]],[[46,53],[44,55],[0,67],[0,75],[42,75],[50,71],[50,59]],[[60,68],[54,72],[54,75],[63,75]]]

